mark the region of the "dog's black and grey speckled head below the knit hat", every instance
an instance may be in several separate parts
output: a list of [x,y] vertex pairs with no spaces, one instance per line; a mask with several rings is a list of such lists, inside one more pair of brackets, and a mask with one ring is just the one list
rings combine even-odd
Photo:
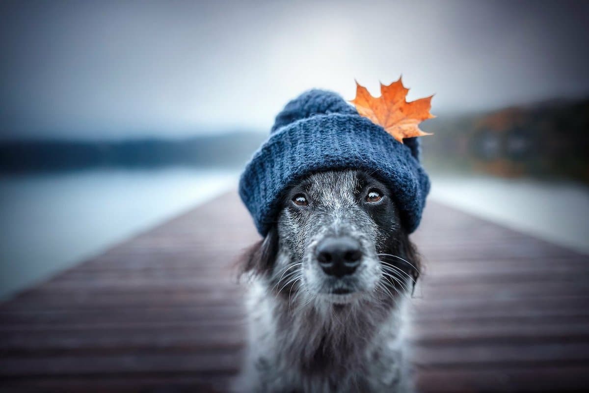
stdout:
[[289,302],[342,306],[391,303],[411,292],[419,260],[392,190],[365,171],[337,170],[285,191],[277,222],[246,254],[245,270]]

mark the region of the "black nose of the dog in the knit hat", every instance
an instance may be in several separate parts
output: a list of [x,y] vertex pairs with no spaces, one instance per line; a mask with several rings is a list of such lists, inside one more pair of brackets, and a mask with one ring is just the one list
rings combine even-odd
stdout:
[[330,276],[352,274],[360,265],[360,242],[349,236],[327,237],[317,245],[317,262]]

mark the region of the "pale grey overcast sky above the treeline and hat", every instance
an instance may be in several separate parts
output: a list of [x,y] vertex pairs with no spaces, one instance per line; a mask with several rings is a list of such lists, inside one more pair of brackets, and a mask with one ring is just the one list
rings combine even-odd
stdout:
[[[589,93],[589,2],[8,2],[0,137],[270,128],[309,88],[400,74],[432,112]],[[425,129],[427,129],[424,124]]]

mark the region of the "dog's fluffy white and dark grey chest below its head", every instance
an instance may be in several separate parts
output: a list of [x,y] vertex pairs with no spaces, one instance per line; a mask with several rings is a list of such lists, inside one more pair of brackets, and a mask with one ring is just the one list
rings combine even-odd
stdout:
[[264,387],[259,391],[405,391],[399,388],[406,372],[398,316],[375,326],[358,315],[336,315],[336,323],[326,324],[318,315],[293,318],[292,310],[265,291],[255,295],[249,304],[249,362]]

